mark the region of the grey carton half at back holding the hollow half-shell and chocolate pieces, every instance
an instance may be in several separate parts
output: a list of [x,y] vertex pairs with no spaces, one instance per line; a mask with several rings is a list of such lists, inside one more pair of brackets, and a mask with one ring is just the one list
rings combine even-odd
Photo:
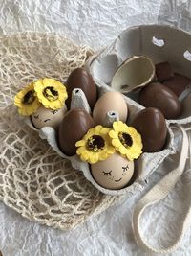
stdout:
[[[191,35],[181,30],[163,25],[142,25],[123,31],[117,39],[101,53],[89,59],[87,68],[99,86],[111,86],[114,74],[120,65],[133,56],[151,58],[155,64],[168,61],[174,72],[190,77]],[[129,93],[136,105],[138,94]],[[191,95],[182,102],[183,112],[178,119],[168,120],[170,124],[191,122]]]

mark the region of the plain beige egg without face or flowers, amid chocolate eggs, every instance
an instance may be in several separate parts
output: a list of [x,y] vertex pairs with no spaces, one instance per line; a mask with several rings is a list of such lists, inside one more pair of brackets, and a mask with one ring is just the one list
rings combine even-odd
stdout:
[[117,111],[119,120],[126,122],[128,108],[120,92],[106,92],[98,99],[93,110],[93,118],[96,125],[104,125],[106,114],[109,111]]

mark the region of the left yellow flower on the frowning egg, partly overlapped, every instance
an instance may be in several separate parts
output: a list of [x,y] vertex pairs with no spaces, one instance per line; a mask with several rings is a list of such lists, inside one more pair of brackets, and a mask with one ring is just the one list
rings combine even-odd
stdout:
[[33,82],[15,95],[14,105],[18,106],[19,114],[24,116],[30,116],[38,109],[40,103],[35,95]]

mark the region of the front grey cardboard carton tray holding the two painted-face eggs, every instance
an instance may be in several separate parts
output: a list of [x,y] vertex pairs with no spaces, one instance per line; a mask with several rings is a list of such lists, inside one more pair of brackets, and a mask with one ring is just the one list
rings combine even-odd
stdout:
[[[77,89],[76,89],[77,90]],[[98,96],[102,96],[104,93],[108,91],[114,91],[113,88],[105,86],[104,84],[97,85],[97,91],[98,91]],[[128,122],[131,122],[135,115],[144,107],[138,105],[136,102],[134,102],[132,99],[123,96],[127,105],[128,105],[128,110],[129,110],[129,115],[128,115]],[[90,108],[87,105],[87,100],[83,98],[83,96],[80,98],[81,101],[74,101],[72,103],[72,107],[75,106],[81,106],[86,109],[86,111],[90,112]],[[56,151],[58,155],[60,155],[63,158],[66,158],[71,161],[73,168],[76,170],[76,172],[81,171],[83,172],[83,175],[102,193],[106,195],[111,195],[111,196],[119,196],[126,194],[128,198],[132,197],[135,195],[138,191],[141,191],[144,186],[146,185],[145,180],[149,175],[151,175],[158,167],[159,164],[171,153],[173,153],[174,147],[173,147],[173,141],[174,141],[174,136],[173,132],[169,128],[169,125],[167,124],[167,129],[168,129],[168,136],[167,136],[167,141],[166,141],[166,146],[165,149],[159,152],[154,152],[154,153],[142,153],[142,155],[138,158],[138,160],[135,161],[135,171],[134,175],[131,178],[130,182],[128,185],[122,189],[118,190],[111,190],[111,189],[105,189],[102,186],[98,185],[93,178],[91,174],[91,167],[88,163],[82,162],[80,158],[75,154],[74,156],[68,156],[64,154],[62,151],[60,151],[58,143],[57,143],[57,132],[55,128],[51,127],[44,127],[41,129],[36,129],[32,125],[32,120],[31,118],[26,118],[26,123],[28,126],[30,126],[32,129],[34,129],[36,132],[39,133],[39,136],[42,139],[47,140],[49,145],[53,148],[53,151]]]

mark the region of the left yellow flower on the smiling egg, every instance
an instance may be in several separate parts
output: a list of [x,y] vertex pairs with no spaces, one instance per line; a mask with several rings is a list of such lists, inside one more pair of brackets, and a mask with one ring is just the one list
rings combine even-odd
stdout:
[[107,159],[115,152],[108,135],[110,130],[110,128],[103,128],[102,126],[90,128],[83,139],[76,142],[75,146],[78,147],[76,153],[82,161],[96,164],[96,162]]

